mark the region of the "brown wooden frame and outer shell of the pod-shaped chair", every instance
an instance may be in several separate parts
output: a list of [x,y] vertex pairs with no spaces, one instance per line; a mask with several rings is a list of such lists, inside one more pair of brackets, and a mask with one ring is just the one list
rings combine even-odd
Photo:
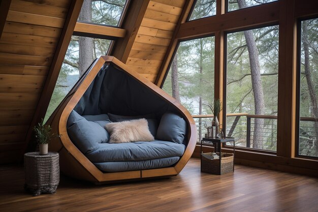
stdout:
[[[90,84],[98,76],[99,72],[104,71],[103,67],[105,66],[112,66],[117,69],[120,74],[125,74],[126,77],[128,76],[130,79],[133,79],[135,84],[131,86],[136,86],[136,83],[138,83],[139,87],[141,87],[147,93],[147,95],[149,95],[150,92],[151,95],[156,96],[155,98],[160,98],[161,101],[164,101],[166,105],[164,108],[159,105],[154,109],[174,110],[183,117],[187,125],[187,131],[184,137],[184,143],[186,147],[183,155],[180,157],[177,163],[165,168],[103,172],[93,163],[91,163],[73,144],[67,131],[68,117],[72,110],[80,102],[86,90],[90,89]],[[144,94],[141,92],[137,95],[142,97]],[[134,97],[128,96],[126,98]],[[145,108],[149,109],[147,105],[138,106],[138,102],[136,102],[136,104],[137,105],[132,106],[135,107],[135,110],[143,110]],[[112,112],[116,113],[116,111]],[[51,117],[48,119],[47,124],[51,125],[54,133],[61,135],[60,138],[55,138],[49,145],[49,149],[51,151],[58,152],[60,155],[61,172],[65,175],[82,180],[88,180],[96,184],[110,183],[114,181],[140,180],[152,177],[170,177],[177,175],[192,156],[197,142],[196,124],[189,112],[176,99],[165,93],[164,90],[157,87],[152,82],[142,77],[113,56],[101,56],[92,63],[85,74],[71,89],[70,93],[65,99],[63,99],[60,105],[53,112]]]

